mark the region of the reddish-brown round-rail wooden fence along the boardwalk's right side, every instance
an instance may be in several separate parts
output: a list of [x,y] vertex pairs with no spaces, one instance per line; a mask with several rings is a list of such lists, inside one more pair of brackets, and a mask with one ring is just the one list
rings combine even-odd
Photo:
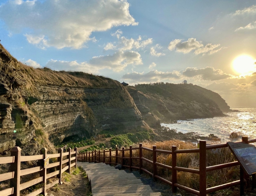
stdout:
[[[241,143],[253,143],[253,142],[256,142],[256,139],[248,140],[247,137],[243,137]],[[243,169],[241,167],[240,167],[240,180],[226,183],[223,185],[219,185],[216,187],[207,188],[207,184],[206,184],[207,172],[239,165],[238,161],[235,161],[235,162],[225,163],[225,164],[221,164],[221,165],[206,167],[206,150],[217,149],[217,148],[220,149],[220,148],[225,148],[225,147],[228,147],[226,143],[206,145],[206,141],[200,141],[199,148],[197,148],[197,149],[177,150],[176,146],[172,146],[172,151],[167,151],[167,150],[158,150],[157,146],[153,146],[153,149],[146,148],[146,147],[143,147],[142,144],[140,143],[139,147],[136,147],[136,148],[133,148],[132,146],[130,146],[129,149],[124,149],[124,148],[118,149],[116,147],[115,150],[112,150],[110,148],[109,150],[103,150],[103,152],[95,150],[92,152],[80,153],[77,155],[78,156],[77,160],[97,162],[97,163],[103,162],[106,164],[120,163],[122,165],[122,167],[130,168],[130,171],[132,171],[132,169],[139,169],[140,172],[143,171],[143,172],[146,172],[146,173],[152,175],[155,180],[159,179],[159,180],[171,185],[172,192],[174,192],[174,193],[177,191],[177,187],[178,187],[180,189],[183,189],[187,192],[190,192],[190,193],[193,193],[193,194],[196,194],[199,196],[206,196],[206,194],[211,193],[211,192],[215,192],[215,191],[222,190],[225,188],[230,188],[230,187],[233,187],[236,185],[240,185],[240,194],[243,195],[243,193],[244,193],[244,186],[243,186],[244,173],[243,173]],[[133,150],[139,150],[139,157],[133,156]],[[153,161],[144,158],[142,150],[153,152]],[[113,151],[114,151],[114,153],[113,153]],[[121,151],[121,156],[118,156],[118,152],[120,152],[120,151]],[[125,155],[124,155],[125,151],[129,151],[129,157],[125,157]],[[109,155],[105,156],[105,153],[108,153]],[[115,154],[115,156],[112,155],[112,153]],[[171,154],[172,155],[172,166],[158,163],[157,162],[157,153]],[[179,154],[179,153],[199,153],[199,165],[200,165],[199,169],[177,167],[177,154]],[[125,165],[125,160],[127,160],[127,159],[129,160],[129,165]],[[133,159],[139,160],[139,167],[133,166]],[[105,162],[105,160],[108,160],[108,162]],[[121,160],[121,161],[118,161],[118,160]],[[153,166],[153,173],[149,172],[146,168],[143,167],[143,161],[146,161]],[[158,173],[157,173],[158,166],[172,171],[172,182],[170,182],[158,175]],[[199,190],[195,190],[192,188],[182,186],[181,184],[178,184],[177,171],[199,174],[199,181],[200,181]],[[255,183],[255,174],[253,174],[252,179],[253,179],[253,185],[255,185],[256,184]]]

